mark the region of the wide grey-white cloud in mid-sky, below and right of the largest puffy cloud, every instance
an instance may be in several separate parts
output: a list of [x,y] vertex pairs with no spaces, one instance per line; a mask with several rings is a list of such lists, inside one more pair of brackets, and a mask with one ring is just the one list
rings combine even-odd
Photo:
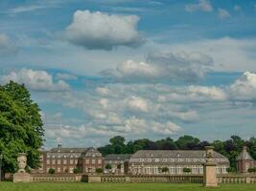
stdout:
[[198,52],[150,53],[146,62],[128,60],[103,75],[121,81],[197,81],[208,71],[213,59]]

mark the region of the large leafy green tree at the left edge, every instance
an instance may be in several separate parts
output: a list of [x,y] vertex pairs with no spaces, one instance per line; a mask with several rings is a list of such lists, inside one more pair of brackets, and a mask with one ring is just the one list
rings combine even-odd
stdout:
[[28,165],[39,165],[43,145],[43,123],[38,105],[24,85],[10,82],[0,86],[0,153],[3,171],[17,170],[18,153],[27,153]]

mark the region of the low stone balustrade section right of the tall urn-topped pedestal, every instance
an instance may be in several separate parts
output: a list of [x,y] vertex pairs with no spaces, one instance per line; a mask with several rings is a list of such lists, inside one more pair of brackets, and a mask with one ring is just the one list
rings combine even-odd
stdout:
[[217,176],[219,183],[256,183],[256,174],[228,174]]

